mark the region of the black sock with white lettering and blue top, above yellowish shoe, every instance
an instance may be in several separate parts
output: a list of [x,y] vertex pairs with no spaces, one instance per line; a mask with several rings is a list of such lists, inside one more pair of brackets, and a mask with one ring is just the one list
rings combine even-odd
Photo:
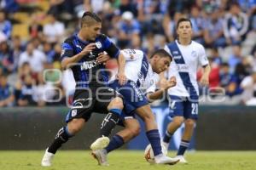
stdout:
[[115,127],[115,125],[119,122],[119,117],[121,113],[122,110],[119,109],[111,109],[109,111],[108,115],[104,118],[101,125],[101,137],[108,136],[111,133],[113,127]]

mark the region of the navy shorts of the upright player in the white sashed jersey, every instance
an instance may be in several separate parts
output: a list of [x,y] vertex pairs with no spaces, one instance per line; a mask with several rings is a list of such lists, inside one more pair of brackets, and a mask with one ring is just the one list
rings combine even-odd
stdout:
[[198,119],[198,97],[189,99],[188,97],[179,97],[169,95],[169,116],[183,116],[185,119]]

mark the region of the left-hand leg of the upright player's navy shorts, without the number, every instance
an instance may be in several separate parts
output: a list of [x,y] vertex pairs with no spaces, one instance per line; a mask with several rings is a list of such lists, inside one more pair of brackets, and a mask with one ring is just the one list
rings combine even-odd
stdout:
[[183,97],[169,95],[169,116],[183,116],[184,99]]

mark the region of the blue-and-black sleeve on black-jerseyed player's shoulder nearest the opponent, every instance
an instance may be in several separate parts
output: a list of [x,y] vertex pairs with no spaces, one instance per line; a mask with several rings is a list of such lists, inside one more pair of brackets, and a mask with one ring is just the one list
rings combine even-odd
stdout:
[[115,46],[115,44],[110,40],[109,37],[101,35],[103,50],[108,53],[111,58],[118,58],[120,50]]

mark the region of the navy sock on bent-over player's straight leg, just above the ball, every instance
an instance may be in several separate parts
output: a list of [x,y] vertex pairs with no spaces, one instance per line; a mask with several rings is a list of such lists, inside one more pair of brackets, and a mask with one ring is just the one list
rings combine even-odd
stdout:
[[158,156],[162,154],[162,148],[160,144],[160,134],[158,129],[153,129],[148,131],[147,138],[149,140],[149,143],[151,144],[152,150],[154,152],[154,156]]

